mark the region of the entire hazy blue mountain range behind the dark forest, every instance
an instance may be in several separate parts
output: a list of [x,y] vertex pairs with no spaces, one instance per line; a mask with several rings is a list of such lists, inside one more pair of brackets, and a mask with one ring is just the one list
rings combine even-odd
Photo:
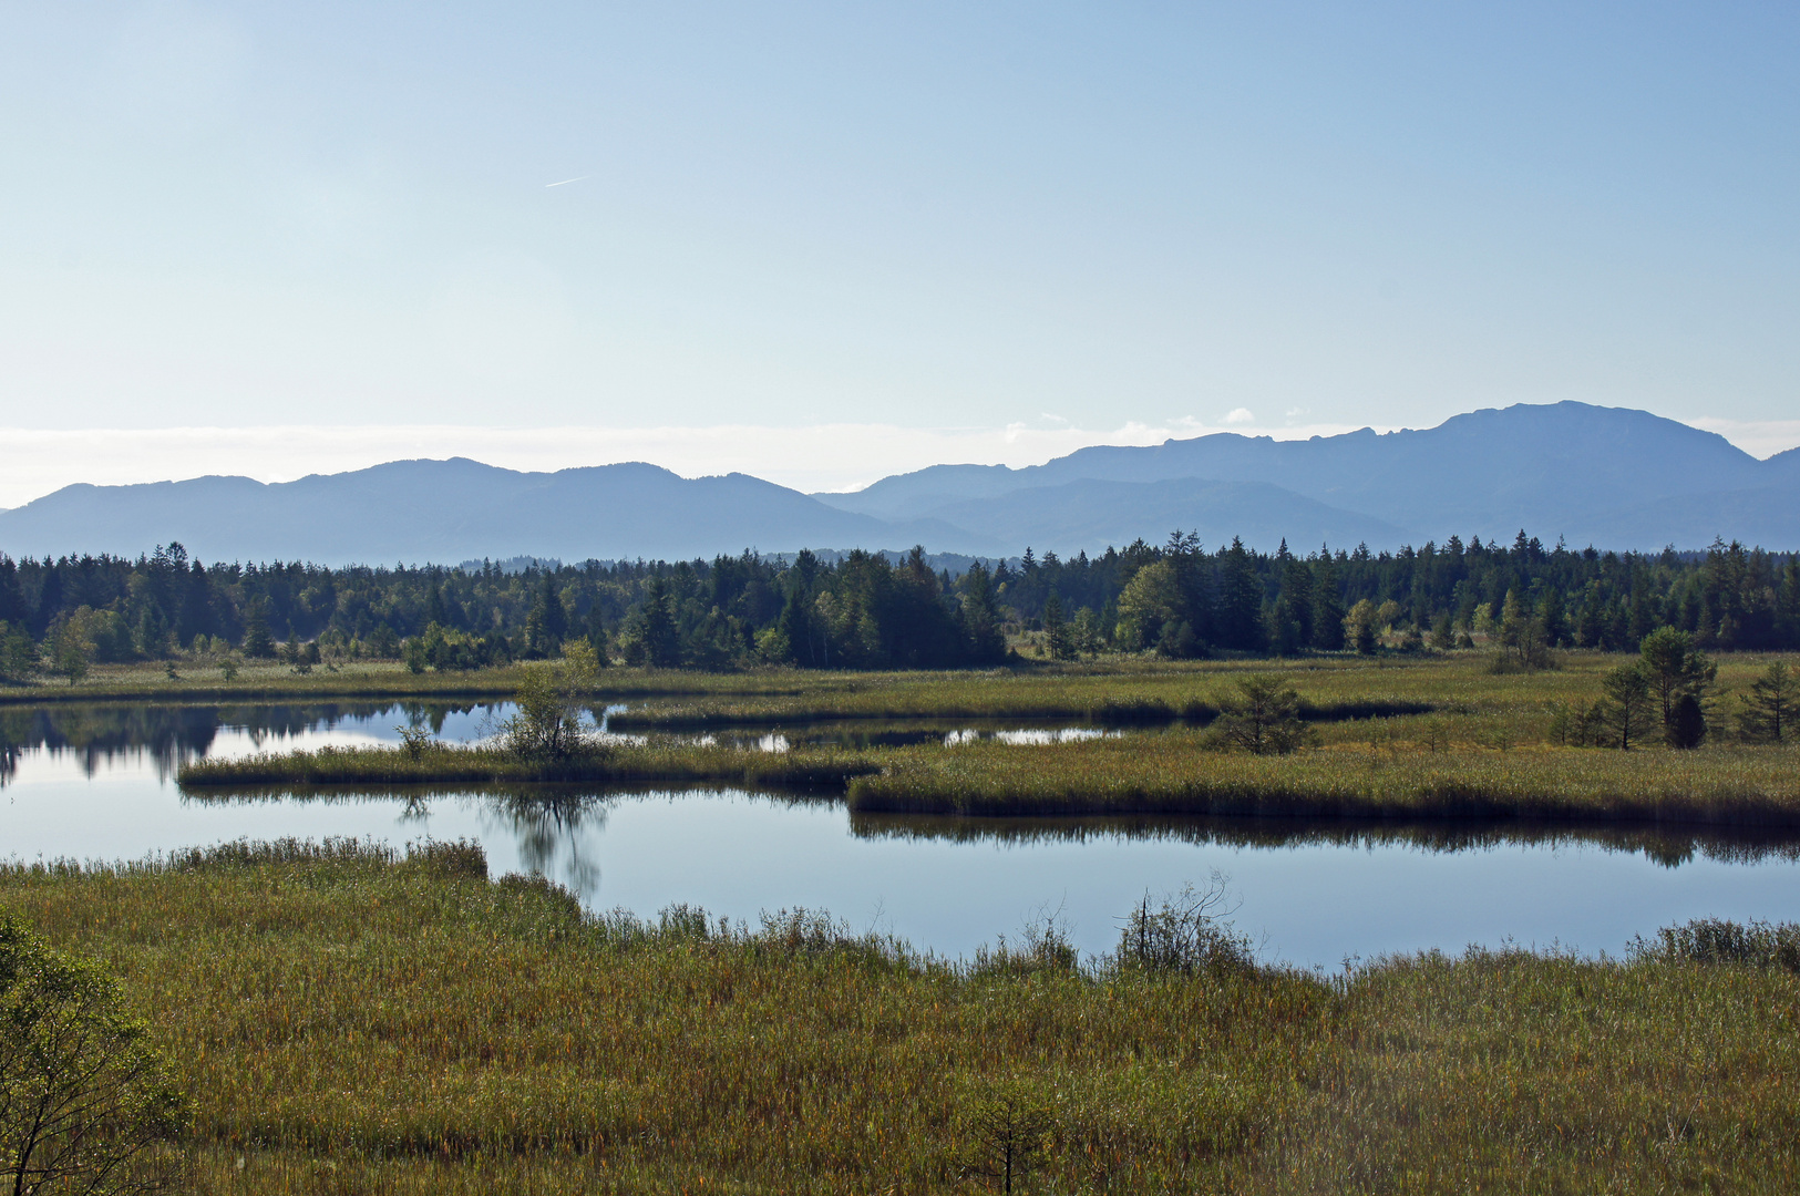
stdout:
[[742,473],[680,478],[648,464],[517,473],[403,460],[263,484],[207,477],[68,486],[0,513],[0,552],[135,556],[180,540],[196,558],[421,563],[518,554],[711,558],[758,549],[1100,552],[1172,529],[1393,549],[1456,532],[1553,543],[1699,549],[1724,536],[1800,549],[1800,450],[1757,460],[1672,419],[1584,403],[1519,405],[1436,428],[1310,441],[1219,433],[1087,448],[1042,466],[932,466],[846,495]]

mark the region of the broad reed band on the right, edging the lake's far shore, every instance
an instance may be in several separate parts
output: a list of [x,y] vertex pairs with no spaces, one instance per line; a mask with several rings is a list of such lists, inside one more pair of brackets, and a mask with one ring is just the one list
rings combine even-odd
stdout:
[[1413,745],[1238,755],[1201,732],[900,752],[850,782],[875,813],[1553,818],[1800,826],[1800,752]]

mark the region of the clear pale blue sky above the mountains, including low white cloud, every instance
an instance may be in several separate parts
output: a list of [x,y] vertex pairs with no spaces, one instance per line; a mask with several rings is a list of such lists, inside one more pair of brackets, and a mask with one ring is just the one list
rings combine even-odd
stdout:
[[1570,397],[1766,455],[1796,14],[0,0],[0,505]]

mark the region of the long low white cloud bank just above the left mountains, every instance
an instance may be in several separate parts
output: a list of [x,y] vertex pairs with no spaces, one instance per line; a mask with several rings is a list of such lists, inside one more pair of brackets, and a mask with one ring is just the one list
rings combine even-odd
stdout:
[[[1089,444],[1161,444],[1226,428],[1179,421],[1127,423],[1112,430],[900,428],[817,424],[779,428],[479,428],[461,424],[274,428],[0,428],[0,507],[16,507],[72,482],[121,486],[209,473],[288,482],[308,473],[364,469],[412,457],[473,457],[509,469],[567,469],[648,460],[684,477],[751,473],[803,491],[857,489],[889,473],[934,464],[1035,466]],[[1255,432],[1231,428],[1231,432]],[[1301,439],[1350,432],[1348,424],[1271,428]]]

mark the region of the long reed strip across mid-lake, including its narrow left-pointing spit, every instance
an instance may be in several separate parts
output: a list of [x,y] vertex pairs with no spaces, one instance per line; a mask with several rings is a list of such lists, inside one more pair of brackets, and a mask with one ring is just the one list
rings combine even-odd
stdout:
[[491,746],[337,748],[203,759],[202,797],[529,784],[742,784],[848,799],[859,815],[1553,820],[1800,827],[1800,748],[1496,750],[1445,739],[1341,743],[1292,755],[1220,752],[1199,730],[1073,743],[758,752],[652,739],[562,759]]

